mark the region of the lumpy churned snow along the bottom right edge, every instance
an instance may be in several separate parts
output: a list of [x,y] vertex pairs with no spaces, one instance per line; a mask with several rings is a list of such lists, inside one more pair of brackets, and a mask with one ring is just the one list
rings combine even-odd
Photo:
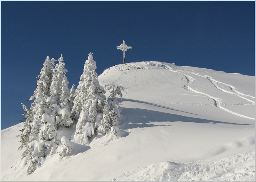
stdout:
[[165,161],[105,181],[255,181],[255,151],[211,162]]

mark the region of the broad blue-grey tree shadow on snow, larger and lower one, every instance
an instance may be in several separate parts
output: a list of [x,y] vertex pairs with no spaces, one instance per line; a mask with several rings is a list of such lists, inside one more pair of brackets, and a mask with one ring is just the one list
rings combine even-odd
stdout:
[[222,122],[215,120],[206,120],[200,118],[192,118],[188,116],[181,116],[178,114],[163,113],[159,111],[151,111],[147,109],[138,108],[122,108],[122,121],[119,123],[120,129],[132,129],[137,127],[157,127],[157,126],[171,126],[171,125],[157,125],[150,124],[150,122],[194,122],[194,123],[212,123],[212,124],[231,124],[231,125],[251,125]]

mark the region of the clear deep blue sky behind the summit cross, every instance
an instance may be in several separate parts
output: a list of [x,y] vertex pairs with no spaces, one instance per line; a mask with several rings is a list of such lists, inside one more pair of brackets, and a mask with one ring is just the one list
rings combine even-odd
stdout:
[[23,119],[46,57],[63,55],[69,87],[89,52],[96,72],[126,62],[255,76],[254,1],[1,1],[1,129]]

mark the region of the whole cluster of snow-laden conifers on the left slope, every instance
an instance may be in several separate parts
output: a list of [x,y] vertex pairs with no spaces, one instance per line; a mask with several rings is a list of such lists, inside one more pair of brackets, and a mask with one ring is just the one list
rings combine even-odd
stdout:
[[18,149],[23,151],[21,163],[27,166],[28,174],[41,166],[48,155],[58,153],[62,158],[71,153],[71,138],[63,133],[58,136],[61,127],[70,128],[76,124],[72,142],[84,145],[89,144],[93,135],[110,132],[118,137],[120,110],[116,95],[122,98],[124,87],[112,85],[111,100],[108,100],[105,89],[99,84],[96,62],[90,53],[77,88],[73,84],[69,90],[62,55],[54,66],[55,61],[47,56],[38,75],[37,88],[29,99],[34,102],[30,108],[22,104],[24,127],[20,130],[21,146]]

